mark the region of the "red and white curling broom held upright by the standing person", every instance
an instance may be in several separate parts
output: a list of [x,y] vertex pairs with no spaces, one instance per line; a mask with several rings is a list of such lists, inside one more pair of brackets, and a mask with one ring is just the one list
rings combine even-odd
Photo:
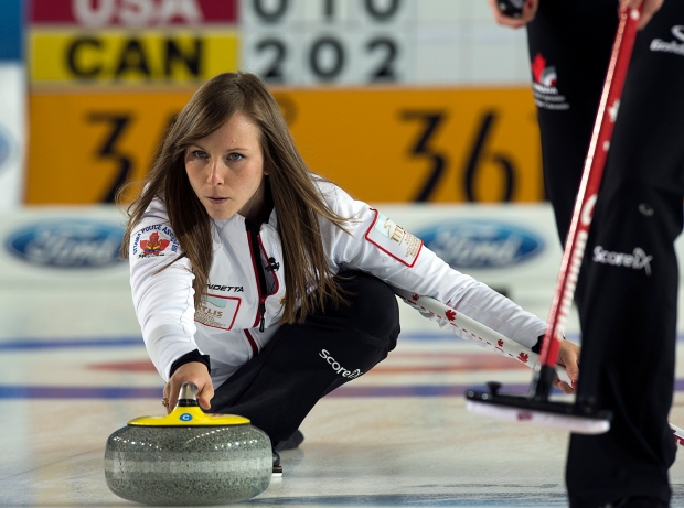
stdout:
[[468,409],[473,412],[503,420],[525,420],[530,423],[585,434],[602,433],[610,429],[612,414],[609,411],[578,402],[568,404],[549,401],[548,393],[554,379],[560,341],[563,339],[563,328],[575,295],[575,287],[589,236],[594,206],[629,68],[639,17],[640,12],[637,9],[621,8],[620,10],[618,31],[579,192],[573,210],[573,220],[551,307],[548,328],[542,343],[539,363],[535,367],[531,394],[519,397],[501,394],[498,390],[490,390],[490,392],[469,390],[466,398]]

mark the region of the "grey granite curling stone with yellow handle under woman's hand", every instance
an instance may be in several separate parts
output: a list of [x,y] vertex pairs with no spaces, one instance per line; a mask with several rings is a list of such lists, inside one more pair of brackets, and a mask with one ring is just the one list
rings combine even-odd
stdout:
[[268,435],[246,418],[204,413],[192,382],[182,386],[173,411],[129,421],[105,451],[109,489],[146,505],[242,501],[266,490],[271,471]]

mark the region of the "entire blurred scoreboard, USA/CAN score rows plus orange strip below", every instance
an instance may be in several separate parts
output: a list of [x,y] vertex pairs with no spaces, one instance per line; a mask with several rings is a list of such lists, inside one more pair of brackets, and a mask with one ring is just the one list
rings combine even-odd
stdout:
[[237,69],[359,198],[541,201],[523,37],[484,0],[33,0],[24,201],[111,202],[196,87]]

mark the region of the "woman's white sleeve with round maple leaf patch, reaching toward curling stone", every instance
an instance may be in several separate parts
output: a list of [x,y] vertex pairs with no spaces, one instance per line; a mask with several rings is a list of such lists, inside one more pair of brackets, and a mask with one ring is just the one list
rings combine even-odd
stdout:
[[197,349],[194,275],[188,259],[179,259],[181,253],[165,214],[159,203],[153,204],[131,234],[128,256],[145,345],[164,380],[169,380],[173,361]]

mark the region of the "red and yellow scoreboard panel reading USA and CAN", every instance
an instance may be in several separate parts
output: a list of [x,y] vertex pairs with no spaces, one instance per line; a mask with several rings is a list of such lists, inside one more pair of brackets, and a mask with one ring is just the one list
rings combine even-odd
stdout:
[[32,0],[35,85],[206,79],[238,65],[235,0]]

